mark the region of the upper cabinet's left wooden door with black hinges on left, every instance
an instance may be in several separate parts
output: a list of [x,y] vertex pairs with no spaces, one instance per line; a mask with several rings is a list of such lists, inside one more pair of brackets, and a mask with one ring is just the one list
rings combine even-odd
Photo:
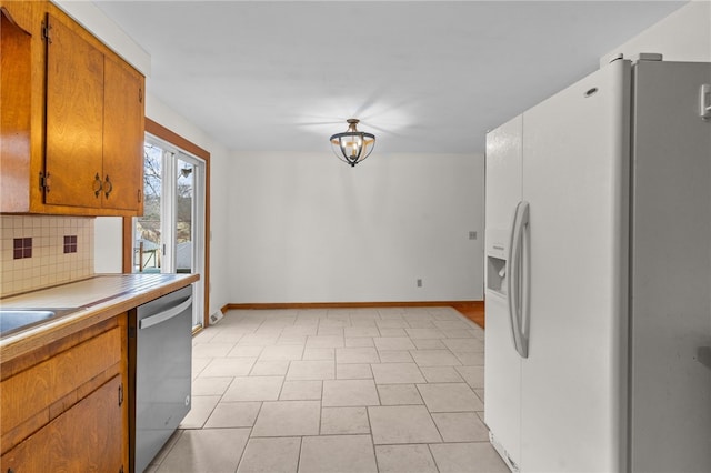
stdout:
[[[97,208],[103,155],[103,53],[47,16],[44,202]],[[97,182],[98,178],[98,182]]]

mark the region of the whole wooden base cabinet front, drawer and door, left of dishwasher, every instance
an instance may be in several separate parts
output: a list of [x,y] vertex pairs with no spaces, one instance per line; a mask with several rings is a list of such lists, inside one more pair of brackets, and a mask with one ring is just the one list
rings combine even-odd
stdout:
[[123,313],[2,363],[0,471],[128,465],[127,322]]

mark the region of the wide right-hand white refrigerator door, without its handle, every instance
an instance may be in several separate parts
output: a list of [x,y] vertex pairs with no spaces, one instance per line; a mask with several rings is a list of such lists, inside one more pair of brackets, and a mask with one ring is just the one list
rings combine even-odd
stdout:
[[625,469],[629,85],[615,61],[523,114],[522,472]]

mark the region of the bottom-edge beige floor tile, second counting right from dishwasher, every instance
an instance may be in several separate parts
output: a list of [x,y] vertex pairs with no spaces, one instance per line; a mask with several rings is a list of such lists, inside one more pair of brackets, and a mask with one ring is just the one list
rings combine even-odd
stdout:
[[250,439],[237,473],[297,473],[301,439]]

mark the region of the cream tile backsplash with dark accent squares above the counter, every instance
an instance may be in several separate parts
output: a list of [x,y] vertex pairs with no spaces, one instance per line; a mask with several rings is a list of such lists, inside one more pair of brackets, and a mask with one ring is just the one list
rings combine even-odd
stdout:
[[0,215],[0,296],[93,275],[93,222],[90,217]]

